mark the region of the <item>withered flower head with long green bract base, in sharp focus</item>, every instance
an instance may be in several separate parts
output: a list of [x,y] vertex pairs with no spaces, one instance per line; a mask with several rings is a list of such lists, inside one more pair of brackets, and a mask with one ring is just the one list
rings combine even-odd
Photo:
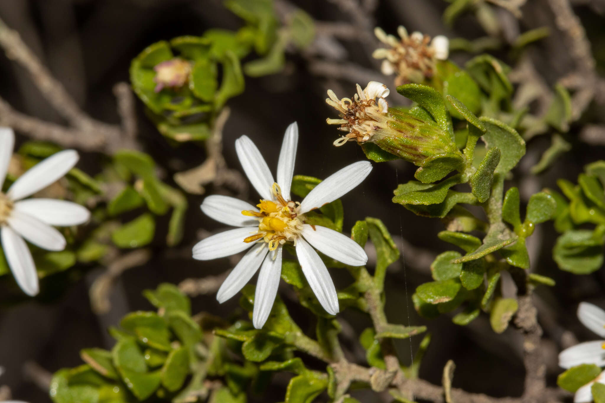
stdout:
[[353,99],[338,99],[332,90],[328,91],[330,98],[325,102],[340,112],[341,119],[327,119],[327,123],[340,124],[338,129],[348,132],[334,142],[335,146],[347,141],[373,143],[417,166],[424,166],[428,158],[445,153],[462,158],[451,135],[436,123],[388,108],[384,97],[389,91],[384,84],[370,82],[363,91],[359,85],[357,89]]

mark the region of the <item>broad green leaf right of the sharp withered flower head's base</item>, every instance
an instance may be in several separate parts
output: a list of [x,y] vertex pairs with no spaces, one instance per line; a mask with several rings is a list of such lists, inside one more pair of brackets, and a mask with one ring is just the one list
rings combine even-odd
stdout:
[[483,141],[488,149],[497,147],[502,152],[500,163],[495,168],[495,173],[509,172],[525,155],[525,140],[510,126],[499,120],[489,117],[481,117],[487,131],[483,135]]

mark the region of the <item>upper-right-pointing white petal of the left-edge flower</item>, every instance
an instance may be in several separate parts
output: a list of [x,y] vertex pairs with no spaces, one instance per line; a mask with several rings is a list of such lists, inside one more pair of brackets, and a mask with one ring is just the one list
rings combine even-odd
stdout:
[[56,182],[72,169],[80,156],[76,150],[64,150],[49,156],[16,180],[7,196],[13,200],[21,200]]

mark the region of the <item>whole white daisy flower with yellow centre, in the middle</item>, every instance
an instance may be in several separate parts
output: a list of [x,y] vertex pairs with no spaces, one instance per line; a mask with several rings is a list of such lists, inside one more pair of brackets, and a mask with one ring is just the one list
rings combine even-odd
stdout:
[[198,260],[217,259],[245,250],[248,252],[235,266],[218,290],[220,303],[243,288],[261,266],[252,312],[254,327],[260,329],[269,318],[280,283],[283,245],[293,243],[309,285],[319,303],[329,314],[339,312],[338,297],[332,278],[313,248],[351,266],[362,266],[367,255],[354,240],[329,228],[305,224],[305,213],[335,201],[359,185],[370,173],[368,161],[351,164],[318,184],[302,202],[290,199],[290,185],[298,144],[298,126],[286,129],[277,167],[277,181],[247,136],[235,141],[235,150],[246,176],[263,198],[253,205],[227,196],[208,196],[201,205],[209,217],[233,225],[225,231],[197,243],[193,257]]

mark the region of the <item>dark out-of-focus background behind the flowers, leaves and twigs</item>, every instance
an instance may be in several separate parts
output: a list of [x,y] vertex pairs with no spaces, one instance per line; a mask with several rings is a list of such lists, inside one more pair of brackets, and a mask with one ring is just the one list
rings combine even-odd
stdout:
[[[347,21],[347,15],[331,1],[295,3],[316,20]],[[523,8],[525,16],[518,22],[518,28],[525,31],[545,25],[554,27],[554,15],[544,5],[545,2],[532,0],[530,3]],[[376,24],[389,33],[394,33],[397,25],[405,25],[408,31],[420,30],[430,35],[446,34],[468,39],[484,35],[473,16],[460,18],[454,29],[446,28],[441,19],[446,5],[448,3],[442,0],[383,0],[376,8]],[[601,44],[605,40],[603,16],[588,5],[578,5],[575,11],[587,27],[589,38],[594,41],[595,52],[602,54]],[[506,14],[508,11],[499,9],[497,13]],[[119,121],[111,88],[116,82],[128,82],[129,63],[143,48],[157,40],[185,34],[200,35],[208,28],[237,29],[241,24],[220,1],[214,0],[2,0],[0,18],[19,31],[88,114],[108,123]],[[503,15],[503,18],[511,16]],[[341,45],[345,59],[368,69],[376,68],[376,62],[364,47],[347,41],[342,41]],[[556,28],[553,28],[551,37],[532,47],[530,52],[539,73],[550,86],[569,70],[569,49],[563,45]],[[507,60],[505,51],[496,53],[496,56]],[[453,55],[453,60],[459,63],[468,58],[466,54]],[[60,117],[31,84],[27,73],[4,53],[0,54],[0,74],[0,95],[15,109],[61,123]],[[341,97],[350,96],[355,91],[354,81],[354,78],[335,80],[314,74],[307,60],[298,54],[290,54],[282,74],[261,79],[247,78],[244,94],[229,102],[232,114],[224,129],[227,164],[240,169],[234,141],[247,134],[274,169],[281,137],[292,121],[298,121],[300,127],[296,174],[325,178],[345,164],[364,159],[361,149],[353,143],[333,147],[332,142],[338,132],[325,124],[325,118],[335,117],[335,111],[324,103],[325,91],[332,88]],[[392,82],[387,82],[387,85],[393,89]],[[391,91],[389,100],[395,104],[405,102],[394,91]],[[165,179],[169,183],[174,184],[170,178],[175,172],[198,166],[204,160],[203,147],[192,143],[176,148],[169,145],[146,119],[138,101],[137,111],[139,138],[145,151],[165,168]],[[588,112],[589,116],[591,114],[602,117],[603,109],[593,106]],[[581,129],[581,124],[572,127],[572,138]],[[24,136],[19,137],[19,141],[25,139]],[[555,188],[557,178],[575,182],[585,164],[605,156],[604,147],[589,146],[576,139],[572,151],[561,156],[551,169],[540,176],[529,175],[529,167],[537,162],[548,144],[548,138],[537,138],[529,143],[528,154],[518,168],[519,175],[508,181],[507,187],[519,186],[527,198],[543,187]],[[94,174],[99,171],[99,161],[98,155],[85,155],[80,166]],[[420,369],[422,378],[440,384],[443,366],[448,359],[453,359],[457,366],[454,386],[492,396],[519,396],[523,390],[524,370],[522,340],[517,332],[509,329],[502,335],[495,335],[485,314],[469,326],[459,327],[451,323],[451,315],[428,321],[419,318],[414,311],[411,294],[417,285],[430,280],[429,265],[433,257],[450,249],[447,243],[437,239],[437,232],[443,229],[438,219],[417,217],[390,201],[392,190],[398,183],[412,179],[414,169],[413,165],[403,161],[374,164],[370,177],[342,200],[345,228],[350,228],[365,216],[374,216],[387,224],[401,246],[402,258],[391,266],[388,274],[387,315],[392,323],[426,324],[433,334]],[[518,181],[516,178],[521,176],[523,181]],[[213,193],[212,187],[207,192]],[[253,191],[248,196],[250,200],[257,197]],[[107,326],[117,324],[119,318],[129,311],[152,309],[141,295],[143,289],[155,288],[161,282],[179,283],[189,277],[216,275],[231,268],[227,259],[197,262],[189,257],[200,230],[220,229],[219,224],[201,214],[198,205],[202,200],[203,196],[189,197],[185,239],[174,251],[167,251],[162,239],[168,218],[160,224],[157,242],[152,247],[154,258],[145,266],[129,269],[120,277],[113,289],[109,314],[97,316],[91,311],[88,288],[103,271],[103,268],[92,266],[60,274],[59,280],[68,286],[55,292],[53,297],[3,300],[0,308],[0,365],[5,367],[5,373],[0,384],[11,388],[13,398],[49,402],[47,392],[40,385],[47,380],[41,369],[55,372],[62,367],[79,365],[79,350],[83,347],[109,349],[113,341],[106,335]],[[574,276],[560,271],[551,257],[556,236],[551,222],[543,224],[531,238],[530,247],[534,272],[557,281],[557,286],[541,287],[537,291],[539,318],[548,339],[544,353],[551,385],[560,372],[557,353],[565,345],[566,337],[575,335],[580,341],[594,337],[578,323],[575,317],[577,303],[587,300],[605,306],[603,270],[590,276]],[[337,287],[347,283],[346,272],[333,270],[332,274]],[[503,280],[505,292],[507,287],[510,292],[512,282],[506,278]],[[284,296],[287,287],[282,286],[281,294]],[[194,312],[208,311],[226,316],[237,308],[237,299],[218,305],[214,294],[211,294],[195,297],[192,301]],[[306,310],[286,297],[284,299],[301,327],[313,332],[314,324]],[[350,328],[345,328],[347,332],[359,334],[370,325],[366,315],[352,310],[341,316],[350,325]],[[403,363],[410,362],[419,341],[420,338],[414,338],[397,344]],[[275,401],[280,396],[283,398],[285,385],[279,384],[267,401]],[[368,399],[364,395],[358,398]]]

